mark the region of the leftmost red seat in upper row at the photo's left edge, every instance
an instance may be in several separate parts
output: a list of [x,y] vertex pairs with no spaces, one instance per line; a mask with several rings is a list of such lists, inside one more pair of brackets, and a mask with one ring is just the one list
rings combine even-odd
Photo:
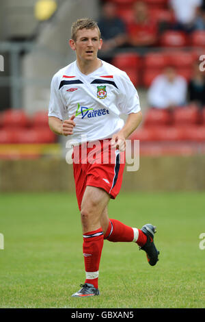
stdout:
[[3,112],[3,127],[26,127],[29,123],[29,117],[23,110],[6,110]]

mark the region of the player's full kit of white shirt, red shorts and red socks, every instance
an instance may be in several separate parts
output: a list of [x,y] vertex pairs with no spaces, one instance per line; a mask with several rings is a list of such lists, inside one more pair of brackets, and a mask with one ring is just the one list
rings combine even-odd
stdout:
[[[102,188],[113,199],[120,192],[125,153],[111,147],[111,138],[124,126],[120,114],[140,111],[137,90],[128,75],[101,62],[102,66],[89,75],[81,73],[77,62],[72,62],[58,71],[51,82],[49,116],[61,120],[75,116],[73,134],[68,140],[74,146],[73,171],[80,210],[86,186]],[[83,232],[86,278],[82,290],[74,293],[74,297],[99,294],[98,269],[104,239],[146,247],[147,234],[116,219],[109,219],[105,230],[98,227]],[[88,288],[90,293],[86,293]]]

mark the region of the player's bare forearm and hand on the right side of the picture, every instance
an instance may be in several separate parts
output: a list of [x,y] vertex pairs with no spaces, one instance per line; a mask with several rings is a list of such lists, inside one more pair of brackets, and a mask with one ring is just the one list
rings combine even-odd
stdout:
[[122,129],[118,133],[113,135],[111,146],[124,151],[126,138],[128,138],[135,131],[135,129],[137,129],[137,127],[141,123],[141,119],[141,111],[139,111],[138,113],[128,114],[128,118],[126,120],[126,123],[124,124],[124,127],[122,127]]

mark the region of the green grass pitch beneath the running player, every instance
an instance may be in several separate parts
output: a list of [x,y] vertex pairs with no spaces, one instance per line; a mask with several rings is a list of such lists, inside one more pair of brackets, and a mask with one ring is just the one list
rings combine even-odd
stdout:
[[157,226],[161,251],[150,267],[134,243],[105,241],[100,297],[71,298],[84,282],[77,201],[66,193],[2,194],[0,308],[204,308],[205,193],[127,193],[111,218]]

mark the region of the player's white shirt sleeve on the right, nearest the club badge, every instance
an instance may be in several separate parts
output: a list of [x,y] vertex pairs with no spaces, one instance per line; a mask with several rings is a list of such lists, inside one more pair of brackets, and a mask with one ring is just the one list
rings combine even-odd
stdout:
[[118,108],[123,114],[137,113],[141,110],[139,96],[131,79],[124,72],[120,77],[120,100]]

